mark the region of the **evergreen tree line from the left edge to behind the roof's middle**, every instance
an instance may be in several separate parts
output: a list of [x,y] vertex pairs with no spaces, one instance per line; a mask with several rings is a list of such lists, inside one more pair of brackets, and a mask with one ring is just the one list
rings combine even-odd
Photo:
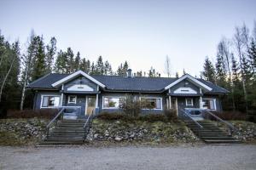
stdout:
[[[72,48],[57,50],[57,40],[51,37],[49,42],[43,36],[32,31],[26,48],[20,48],[20,42],[9,42],[0,31],[0,116],[9,109],[31,108],[33,94],[26,91],[26,85],[49,73],[71,74],[84,71],[90,75],[125,76],[129,68],[125,60],[113,71],[108,60],[102,56],[96,62],[82,57]],[[21,53],[22,51],[22,53]],[[137,77],[159,77],[153,67],[149,71],[137,71]]]

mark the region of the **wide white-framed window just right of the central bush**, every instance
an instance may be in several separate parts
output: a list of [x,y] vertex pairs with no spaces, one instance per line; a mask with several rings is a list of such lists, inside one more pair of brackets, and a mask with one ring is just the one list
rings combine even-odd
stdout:
[[162,110],[161,98],[141,98],[141,102],[143,109]]

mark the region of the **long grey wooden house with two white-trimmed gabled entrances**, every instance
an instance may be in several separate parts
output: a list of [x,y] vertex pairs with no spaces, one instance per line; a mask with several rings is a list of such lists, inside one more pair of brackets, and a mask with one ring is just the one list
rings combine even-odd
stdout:
[[222,111],[220,96],[229,93],[212,82],[189,74],[180,78],[90,76],[84,71],[73,74],[48,74],[26,88],[35,92],[33,109],[48,109],[60,106],[80,106],[79,116],[92,111],[119,111],[127,94],[134,99],[145,100],[150,108],[143,113],[162,113],[164,108],[201,108]]

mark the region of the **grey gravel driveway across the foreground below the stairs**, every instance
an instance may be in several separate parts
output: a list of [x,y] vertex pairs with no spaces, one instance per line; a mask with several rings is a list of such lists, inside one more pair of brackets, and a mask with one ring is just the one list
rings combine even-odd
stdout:
[[256,169],[256,145],[0,147],[0,169]]

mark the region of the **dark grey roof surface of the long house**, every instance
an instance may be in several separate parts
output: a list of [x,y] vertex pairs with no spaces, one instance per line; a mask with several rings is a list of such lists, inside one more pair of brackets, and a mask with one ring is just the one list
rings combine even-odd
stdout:
[[[52,83],[67,77],[68,74],[57,74],[52,73],[44,77],[39,78],[35,82],[27,85],[26,88],[45,88],[45,89],[56,89],[51,86]],[[142,92],[160,92],[166,86],[176,81],[177,78],[167,77],[121,77],[121,76],[91,76],[97,81],[102,82],[106,85],[107,90],[115,91],[142,91]],[[207,86],[212,88],[211,94],[225,94],[229,91],[224,88],[220,88],[217,85],[207,82],[202,79],[199,81],[205,83]]]

